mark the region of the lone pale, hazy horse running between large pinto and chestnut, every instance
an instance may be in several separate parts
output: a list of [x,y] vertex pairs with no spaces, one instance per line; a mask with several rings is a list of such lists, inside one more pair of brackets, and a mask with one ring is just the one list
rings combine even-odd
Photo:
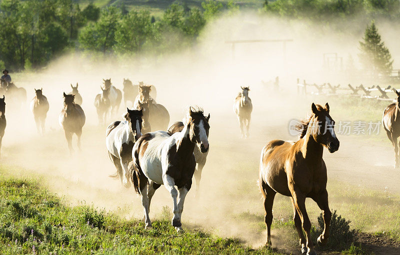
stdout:
[[[251,104],[251,99],[248,97],[249,87],[242,87],[241,93],[238,93],[233,103],[233,111],[237,116],[237,120],[240,124],[241,137],[247,138],[249,135],[248,129],[250,128],[250,116],[253,109]],[[246,131],[244,131],[243,125],[246,126]]]

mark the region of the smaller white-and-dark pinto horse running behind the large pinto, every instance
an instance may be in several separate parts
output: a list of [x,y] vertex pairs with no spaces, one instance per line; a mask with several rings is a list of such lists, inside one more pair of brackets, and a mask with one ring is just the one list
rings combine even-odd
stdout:
[[121,185],[130,186],[128,182],[128,163],[132,161],[133,144],[141,135],[142,110],[126,108],[124,121],[115,121],[108,125],[105,131],[105,145],[108,155],[115,165],[116,173],[110,177],[118,178]]

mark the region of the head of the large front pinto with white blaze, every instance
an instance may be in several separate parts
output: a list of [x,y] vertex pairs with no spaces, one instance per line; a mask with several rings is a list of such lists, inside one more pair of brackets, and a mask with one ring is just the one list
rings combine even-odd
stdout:
[[209,131],[209,113],[204,116],[202,109],[195,109],[190,106],[186,125],[189,125],[189,139],[191,142],[196,143],[202,153],[208,151],[208,131]]

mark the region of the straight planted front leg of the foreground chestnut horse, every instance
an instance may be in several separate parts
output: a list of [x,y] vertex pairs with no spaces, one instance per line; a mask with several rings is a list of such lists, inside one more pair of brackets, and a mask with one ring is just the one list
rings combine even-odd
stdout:
[[305,209],[305,195],[303,195],[301,192],[294,191],[292,196],[294,200],[294,205],[296,206],[296,210],[300,215],[302,227],[305,232],[305,246],[307,247],[307,255],[316,255],[314,245],[311,241],[311,222],[308,218],[307,210]]

